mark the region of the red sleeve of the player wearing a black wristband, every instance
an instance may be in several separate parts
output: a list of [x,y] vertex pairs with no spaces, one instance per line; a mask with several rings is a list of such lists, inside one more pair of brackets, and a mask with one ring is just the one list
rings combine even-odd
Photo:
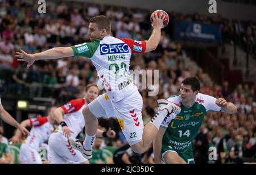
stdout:
[[76,112],[84,104],[85,104],[84,99],[76,99],[76,100],[69,101],[67,104],[64,104],[63,106],[61,106],[61,108],[64,110],[65,114],[67,114],[67,113]]

